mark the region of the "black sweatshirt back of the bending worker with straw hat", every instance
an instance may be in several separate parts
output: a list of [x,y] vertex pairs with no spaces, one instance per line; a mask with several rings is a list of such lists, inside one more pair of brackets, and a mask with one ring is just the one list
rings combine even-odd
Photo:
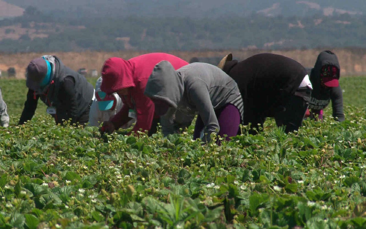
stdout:
[[300,63],[272,53],[229,62],[223,70],[238,84],[246,110],[267,117],[273,117],[272,108],[283,104],[283,99],[296,91],[306,75]]

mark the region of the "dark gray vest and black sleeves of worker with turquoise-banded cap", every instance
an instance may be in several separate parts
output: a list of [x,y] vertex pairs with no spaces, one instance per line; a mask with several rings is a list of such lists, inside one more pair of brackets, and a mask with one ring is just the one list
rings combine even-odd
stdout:
[[56,114],[52,115],[56,123],[62,123],[62,119],[70,118],[72,123],[76,123],[84,112],[89,110],[94,93],[93,85],[82,75],[64,66],[56,56],[55,66],[55,73],[45,92],[37,93],[28,89],[27,100],[18,125],[32,119],[38,99],[41,99],[46,106],[56,108]]

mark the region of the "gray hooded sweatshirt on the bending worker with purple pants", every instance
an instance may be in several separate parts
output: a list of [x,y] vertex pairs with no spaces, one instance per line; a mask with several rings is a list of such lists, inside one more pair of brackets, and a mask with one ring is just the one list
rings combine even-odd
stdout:
[[191,63],[174,70],[171,63],[158,63],[146,84],[145,95],[170,104],[161,117],[163,134],[172,133],[172,123],[179,113],[198,114],[205,124],[204,133],[219,132],[215,110],[233,104],[243,120],[243,99],[238,85],[224,71],[207,63]]

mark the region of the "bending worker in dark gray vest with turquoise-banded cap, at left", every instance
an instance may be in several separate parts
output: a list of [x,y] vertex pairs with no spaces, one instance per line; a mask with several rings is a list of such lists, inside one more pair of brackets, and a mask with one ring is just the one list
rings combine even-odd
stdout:
[[85,124],[93,102],[94,88],[86,78],[64,66],[56,56],[45,55],[31,60],[27,66],[27,100],[19,125],[32,119],[40,98],[46,112],[56,123],[71,119],[71,123]]

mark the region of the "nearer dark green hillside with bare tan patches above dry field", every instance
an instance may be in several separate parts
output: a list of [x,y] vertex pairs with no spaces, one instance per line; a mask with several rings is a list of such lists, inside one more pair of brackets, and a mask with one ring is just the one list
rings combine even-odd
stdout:
[[366,48],[366,18],[64,18],[27,7],[0,21],[0,52]]

